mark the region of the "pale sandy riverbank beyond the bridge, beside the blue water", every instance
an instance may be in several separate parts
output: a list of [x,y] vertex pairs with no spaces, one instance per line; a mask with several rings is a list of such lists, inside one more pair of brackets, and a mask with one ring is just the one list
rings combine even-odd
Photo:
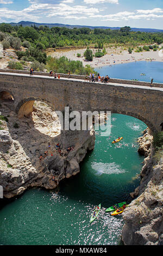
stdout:
[[[93,57],[92,62],[88,62],[85,60],[84,52],[86,47],[83,49],[77,50],[67,50],[67,51],[49,51],[47,55],[51,55],[52,57],[61,57],[65,56],[70,60],[80,60],[83,62],[83,65],[91,65],[93,68],[105,65],[116,65],[122,63],[129,63],[135,61],[142,61],[142,60],[152,60],[163,62],[163,54],[159,56],[159,51],[154,52],[153,50],[149,52],[132,52],[131,54],[128,53],[128,50],[122,50],[122,48],[106,48],[107,54],[101,58]],[[91,49],[93,54],[97,51],[97,49]],[[81,57],[77,57],[77,53],[80,53]]]

